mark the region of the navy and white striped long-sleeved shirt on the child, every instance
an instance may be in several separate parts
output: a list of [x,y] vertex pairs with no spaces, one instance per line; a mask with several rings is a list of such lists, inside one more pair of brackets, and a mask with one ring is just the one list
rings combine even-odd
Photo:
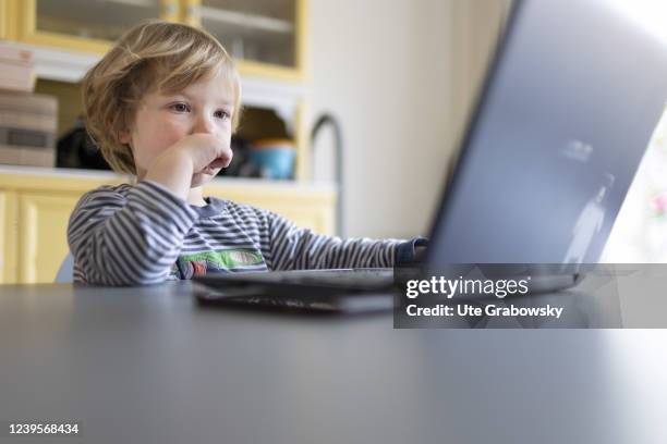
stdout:
[[206,272],[392,267],[411,242],[315,234],[251,206],[189,205],[161,185],[102,186],[70,217],[74,282],[143,285]]

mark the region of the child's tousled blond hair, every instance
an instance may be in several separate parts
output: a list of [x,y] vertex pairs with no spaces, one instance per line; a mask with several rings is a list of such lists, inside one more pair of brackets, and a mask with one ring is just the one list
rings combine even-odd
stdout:
[[222,70],[234,94],[231,118],[240,118],[241,81],[222,45],[192,26],[149,21],[124,34],[83,79],[88,134],[111,168],[136,174],[129,145],[121,134],[131,130],[142,98],[151,91],[178,92]]

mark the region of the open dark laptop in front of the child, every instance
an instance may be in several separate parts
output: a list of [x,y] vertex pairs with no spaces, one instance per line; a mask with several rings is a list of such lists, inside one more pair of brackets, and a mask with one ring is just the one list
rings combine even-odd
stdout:
[[[556,264],[537,285],[553,291],[597,262],[667,103],[666,34],[638,20],[633,3],[513,2],[432,224],[426,269]],[[396,280],[392,270],[195,278],[204,303],[335,311],[391,308],[379,295]]]

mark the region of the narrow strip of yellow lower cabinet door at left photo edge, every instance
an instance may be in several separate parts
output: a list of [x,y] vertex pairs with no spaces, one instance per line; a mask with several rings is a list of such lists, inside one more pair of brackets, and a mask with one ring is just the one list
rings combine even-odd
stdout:
[[17,237],[16,193],[0,190],[0,284],[16,283]]

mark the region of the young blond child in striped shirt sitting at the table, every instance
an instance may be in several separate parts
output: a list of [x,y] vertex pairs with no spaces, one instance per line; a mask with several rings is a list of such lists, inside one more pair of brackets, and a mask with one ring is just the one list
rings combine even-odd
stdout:
[[102,186],[74,209],[74,282],[142,285],[207,272],[392,267],[422,239],[341,239],[265,210],[204,197],[229,165],[241,85],[222,46],[186,25],[138,25],[83,82],[86,124],[136,184]]

